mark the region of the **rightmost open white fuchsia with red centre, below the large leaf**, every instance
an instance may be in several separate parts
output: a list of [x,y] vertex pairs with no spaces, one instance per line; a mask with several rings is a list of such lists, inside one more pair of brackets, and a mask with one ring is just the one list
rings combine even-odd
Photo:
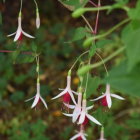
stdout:
[[108,108],[111,108],[111,106],[112,106],[111,97],[117,98],[119,100],[125,100],[123,97],[121,97],[119,95],[110,93],[110,85],[107,84],[106,85],[106,92],[103,93],[103,95],[101,95],[100,97],[93,99],[91,101],[97,101],[97,100],[101,99],[102,106],[108,106]]

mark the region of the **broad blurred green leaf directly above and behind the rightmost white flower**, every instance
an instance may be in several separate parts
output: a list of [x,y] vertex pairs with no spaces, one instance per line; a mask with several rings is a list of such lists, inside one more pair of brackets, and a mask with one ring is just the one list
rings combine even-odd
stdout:
[[123,94],[131,96],[140,96],[140,65],[135,67],[133,71],[127,72],[127,62],[123,62],[119,66],[113,68],[109,72],[109,77],[105,80],[109,82],[111,87]]

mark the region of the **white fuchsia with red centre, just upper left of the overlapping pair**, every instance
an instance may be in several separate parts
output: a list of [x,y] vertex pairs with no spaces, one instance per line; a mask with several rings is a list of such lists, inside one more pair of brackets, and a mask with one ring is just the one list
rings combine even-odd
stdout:
[[69,104],[71,99],[73,101],[74,104],[76,104],[74,95],[73,95],[73,91],[71,90],[71,76],[67,76],[67,86],[65,89],[63,89],[63,91],[58,94],[57,96],[55,96],[54,98],[52,98],[52,100],[57,99],[59,97],[63,96],[63,102],[66,104]]

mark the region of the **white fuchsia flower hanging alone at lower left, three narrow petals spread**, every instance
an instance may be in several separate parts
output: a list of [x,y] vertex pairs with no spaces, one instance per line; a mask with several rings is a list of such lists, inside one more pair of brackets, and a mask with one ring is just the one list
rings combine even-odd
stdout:
[[44,104],[45,108],[48,109],[45,100],[44,100],[44,99],[41,97],[41,95],[40,95],[40,84],[39,84],[39,83],[37,83],[37,93],[36,93],[36,95],[35,95],[34,97],[32,97],[32,98],[26,100],[25,102],[28,102],[28,101],[30,101],[30,100],[32,100],[32,99],[34,99],[34,102],[33,102],[32,106],[31,106],[31,108],[34,108],[35,106],[37,106],[37,104],[38,104],[40,101],[42,101],[42,103]]

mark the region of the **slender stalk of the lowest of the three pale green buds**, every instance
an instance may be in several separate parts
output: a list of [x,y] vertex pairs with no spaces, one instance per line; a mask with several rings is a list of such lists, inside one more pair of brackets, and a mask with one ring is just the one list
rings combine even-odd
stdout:
[[110,56],[108,56],[107,58],[105,58],[103,61],[100,61],[98,63],[92,64],[90,65],[91,68],[96,68],[101,66],[102,64],[108,62],[109,60],[111,60],[113,57],[117,56],[118,54],[120,54],[121,52],[123,52],[125,50],[125,47],[121,47],[120,49],[118,49],[117,51],[115,51],[114,53],[112,53]]

